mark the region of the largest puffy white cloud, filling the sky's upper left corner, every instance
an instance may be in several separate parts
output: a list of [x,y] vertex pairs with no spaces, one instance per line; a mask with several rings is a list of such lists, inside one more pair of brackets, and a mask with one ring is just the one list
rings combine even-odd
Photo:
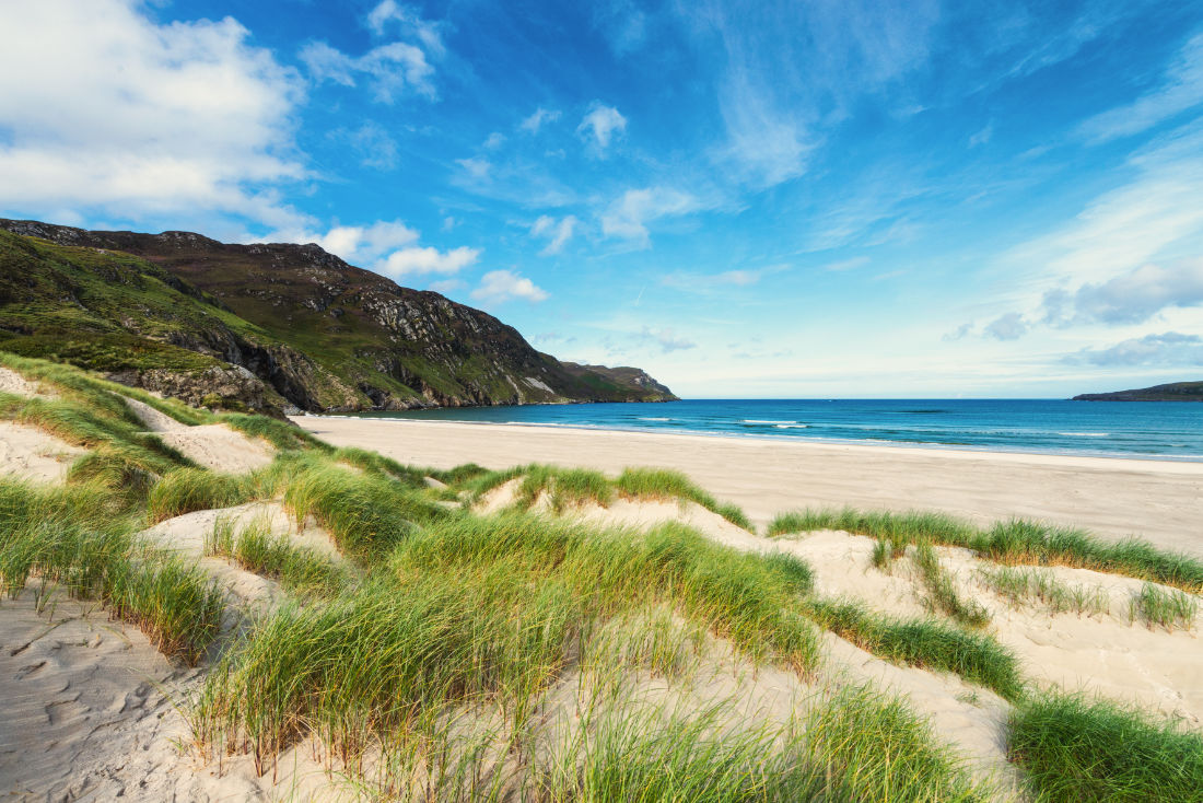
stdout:
[[295,71],[232,18],[156,25],[134,0],[0,4],[0,208],[304,220]]

